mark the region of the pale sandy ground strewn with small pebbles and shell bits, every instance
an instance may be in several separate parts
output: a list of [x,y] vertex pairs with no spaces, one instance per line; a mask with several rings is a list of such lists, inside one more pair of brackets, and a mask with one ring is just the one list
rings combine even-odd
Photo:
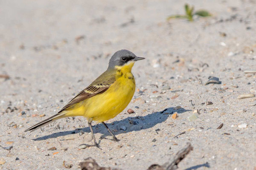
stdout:
[[[13,146],[0,148],[5,162],[0,169],[66,169],[68,164],[77,169],[92,157],[105,167],[145,170],[169,161],[191,142],[194,150],[179,169],[253,170],[256,106],[249,105],[256,97],[237,97],[256,90],[256,75],[244,73],[256,70],[256,1],[193,0],[189,3],[196,9],[213,16],[167,22],[170,14],[184,13],[184,3],[0,1],[0,74],[10,77],[0,78],[0,145]],[[87,87],[120,49],[146,59],[133,68],[134,99],[106,122],[119,142],[99,140],[111,136],[94,123],[101,150],[78,149],[93,144],[85,141],[90,129],[83,117],[24,133]],[[209,76],[221,84],[204,85]],[[206,100],[213,104],[202,104]],[[128,108],[135,113],[128,114]],[[205,111],[193,113],[197,109]],[[189,121],[193,114],[198,119]],[[79,136],[81,130],[85,134]]]

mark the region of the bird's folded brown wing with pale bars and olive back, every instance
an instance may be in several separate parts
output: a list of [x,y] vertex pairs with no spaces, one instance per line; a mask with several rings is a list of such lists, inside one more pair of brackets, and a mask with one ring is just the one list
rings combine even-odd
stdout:
[[71,105],[79,103],[97,94],[104,93],[115,81],[116,79],[113,73],[104,72],[94,82],[92,82],[92,84],[90,84],[87,88],[77,94],[70,102],[68,102],[67,105],[65,105],[58,113],[66,110]]

